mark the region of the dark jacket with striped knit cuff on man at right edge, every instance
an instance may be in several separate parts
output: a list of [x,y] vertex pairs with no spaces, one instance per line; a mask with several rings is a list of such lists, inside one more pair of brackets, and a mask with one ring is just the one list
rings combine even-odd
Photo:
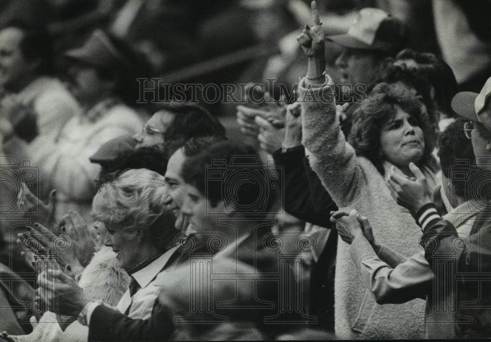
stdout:
[[450,222],[439,218],[433,203],[416,215],[423,228],[425,258],[438,279],[436,284],[440,284],[437,293],[447,290],[448,284],[459,283],[455,310],[471,318],[459,325],[460,335],[465,338],[489,338],[491,334],[491,295],[487,289],[491,271],[489,210],[487,207],[476,215],[467,236],[459,236]]

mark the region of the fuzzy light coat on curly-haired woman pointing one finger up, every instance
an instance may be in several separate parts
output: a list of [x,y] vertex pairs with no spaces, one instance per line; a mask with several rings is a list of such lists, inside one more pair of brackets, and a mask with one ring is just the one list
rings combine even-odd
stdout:
[[[332,81],[327,76],[327,83]],[[305,96],[307,95],[307,96]],[[313,95],[313,96],[308,96]],[[356,209],[368,218],[376,239],[409,257],[420,251],[421,230],[390,195],[385,178],[364,157],[357,157],[345,140],[336,116],[330,86],[309,88],[299,85],[302,108],[302,142],[310,152],[310,166],[326,187],[339,210]],[[385,174],[392,164],[385,162]],[[435,176],[423,168],[430,188]],[[339,239],[334,284],[334,329],[340,339],[422,339],[425,302],[379,305],[363,283],[359,268],[350,256],[349,245]]]

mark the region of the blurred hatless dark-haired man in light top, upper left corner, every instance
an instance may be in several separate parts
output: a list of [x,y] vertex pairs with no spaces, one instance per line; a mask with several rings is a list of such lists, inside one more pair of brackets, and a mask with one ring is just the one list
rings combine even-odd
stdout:
[[63,125],[78,111],[74,97],[53,77],[53,37],[44,28],[14,21],[0,31],[2,74],[0,115],[11,129],[2,127],[5,151],[15,154],[14,136],[27,142],[37,135],[57,137]]

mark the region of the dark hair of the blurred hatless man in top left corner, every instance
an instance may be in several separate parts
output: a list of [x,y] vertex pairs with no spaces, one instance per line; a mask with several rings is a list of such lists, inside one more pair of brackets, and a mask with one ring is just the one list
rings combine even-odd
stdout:
[[54,39],[45,27],[33,27],[21,20],[13,20],[5,28],[22,30],[19,44],[22,55],[29,62],[39,61],[37,71],[41,75],[51,76],[55,70]]

